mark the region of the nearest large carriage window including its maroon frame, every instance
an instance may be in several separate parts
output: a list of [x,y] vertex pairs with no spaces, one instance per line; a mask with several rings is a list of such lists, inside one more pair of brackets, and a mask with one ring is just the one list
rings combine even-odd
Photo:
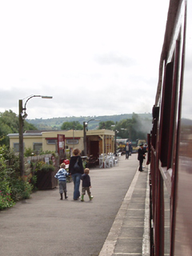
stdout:
[[[162,89],[162,113],[160,125],[160,161],[162,167],[167,170],[173,168],[175,138],[177,137],[179,102],[181,92],[182,77],[182,30],[180,28],[178,38],[175,40],[174,50],[172,49],[172,58],[166,63],[165,76]],[[168,96],[167,96],[168,95]]]

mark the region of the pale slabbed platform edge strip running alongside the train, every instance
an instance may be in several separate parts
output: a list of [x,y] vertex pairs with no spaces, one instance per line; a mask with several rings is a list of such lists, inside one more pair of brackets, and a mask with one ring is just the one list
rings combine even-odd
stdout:
[[137,171],[99,256],[150,255],[149,166]]

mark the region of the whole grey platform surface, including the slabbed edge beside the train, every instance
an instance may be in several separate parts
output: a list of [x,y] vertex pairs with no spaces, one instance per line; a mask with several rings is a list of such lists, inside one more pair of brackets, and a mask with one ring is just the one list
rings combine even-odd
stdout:
[[0,211],[1,256],[150,255],[148,167],[139,172],[133,154],[90,177],[93,202],[74,202],[68,183],[63,202],[56,188]]

